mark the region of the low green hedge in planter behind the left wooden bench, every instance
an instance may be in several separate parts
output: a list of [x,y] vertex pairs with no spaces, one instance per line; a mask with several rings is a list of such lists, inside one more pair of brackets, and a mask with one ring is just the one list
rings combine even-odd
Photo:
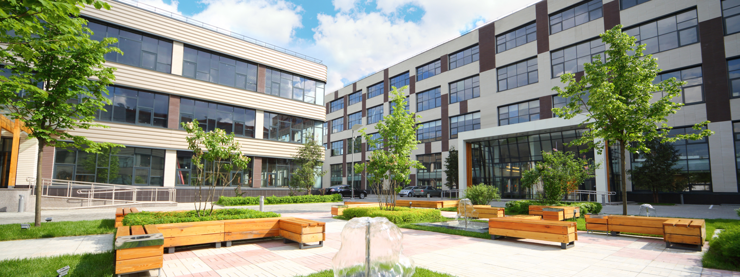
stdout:
[[[201,211],[207,214],[209,211]],[[280,217],[280,213],[271,211],[255,211],[249,209],[218,209],[213,210],[210,216],[195,216],[195,211],[166,211],[166,212],[149,212],[141,211],[138,213],[129,213],[124,216],[123,224],[129,225],[149,225],[149,224],[167,224],[181,222],[200,222],[224,219],[260,219],[265,217]]]

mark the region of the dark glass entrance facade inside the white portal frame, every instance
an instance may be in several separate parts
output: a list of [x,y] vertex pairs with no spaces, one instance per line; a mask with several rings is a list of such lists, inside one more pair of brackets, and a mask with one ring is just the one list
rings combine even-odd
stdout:
[[[542,151],[571,151],[580,158],[593,160],[593,150],[580,153],[588,146],[565,146],[580,137],[585,129],[556,131],[530,136],[508,137],[472,143],[473,183],[494,185],[503,198],[534,198],[536,190],[522,188],[522,171],[542,160]],[[595,178],[579,185],[582,190],[595,190]]]

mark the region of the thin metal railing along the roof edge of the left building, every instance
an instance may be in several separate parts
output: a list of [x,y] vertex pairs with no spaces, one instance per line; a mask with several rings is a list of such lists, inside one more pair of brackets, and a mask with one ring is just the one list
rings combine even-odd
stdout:
[[302,58],[302,59],[304,59],[306,61],[312,61],[314,63],[321,64],[321,60],[319,60],[317,58],[312,58],[312,57],[309,57],[307,55],[303,55],[303,54],[300,54],[300,53],[297,53],[297,52],[293,52],[293,51],[291,51],[289,49],[285,49],[283,47],[277,47],[275,45],[268,44],[268,43],[266,43],[264,41],[258,41],[258,40],[254,39],[254,38],[249,38],[246,35],[239,35],[238,33],[234,33],[232,31],[229,31],[229,30],[226,30],[226,29],[221,29],[221,28],[215,27],[215,26],[213,26],[211,24],[206,24],[206,23],[203,23],[201,21],[197,21],[197,20],[195,20],[193,18],[187,18],[185,16],[178,15],[177,13],[171,13],[171,12],[169,12],[167,10],[162,10],[162,9],[160,9],[158,7],[153,7],[153,6],[150,6],[148,4],[141,3],[139,1],[135,1],[135,0],[114,0],[114,1],[121,2],[121,3],[124,3],[124,4],[129,4],[131,6],[138,7],[141,10],[148,10],[148,11],[150,11],[152,13],[156,13],[156,14],[161,15],[161,16],[166,16],[166,17],[175,19],[177,21],[183,21],[183,22],[185,22],[187,24],[195,25],[195,26],[201,27],[203,29],[212,30],[212,31],[214,31],[216,33],[221,33],[223,35],[229,35],[232,38],[238,38],[238,39],[240,39],[242,41],[249,42],[250,44],[255,44],[255,45],[258,45],[260,47],[265,47],[267,49],[273,49],[273,50],[275,50],[277,52],[283,52],[283,53],[286,53],[288,55],[292,55],[292,56],[297,57],[297,58]]

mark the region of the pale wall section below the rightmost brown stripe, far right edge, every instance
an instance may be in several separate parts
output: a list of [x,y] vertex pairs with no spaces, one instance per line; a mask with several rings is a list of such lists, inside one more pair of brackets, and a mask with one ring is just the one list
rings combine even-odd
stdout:
[[709,157],[712,168],[713,192],[738,192],[737,171],[735,165],[735,140],[733,140],[733,123],[730,121],[709,123],[708,128],[714,131],[709,137]]

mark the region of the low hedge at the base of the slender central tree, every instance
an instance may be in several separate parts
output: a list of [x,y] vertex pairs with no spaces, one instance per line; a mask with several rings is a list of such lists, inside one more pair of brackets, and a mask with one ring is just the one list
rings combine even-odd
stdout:
[[412,209],[405,207],[396,207],[394,211],[381,211],[376,207],[358,207],[348,208],[343,211],[343,216],[352,219],[355,217],[385,217],[388,221],[395,224],[412,223],[412,222],[430,222],[445,219],[442,217],[440,210],[434,209]]

